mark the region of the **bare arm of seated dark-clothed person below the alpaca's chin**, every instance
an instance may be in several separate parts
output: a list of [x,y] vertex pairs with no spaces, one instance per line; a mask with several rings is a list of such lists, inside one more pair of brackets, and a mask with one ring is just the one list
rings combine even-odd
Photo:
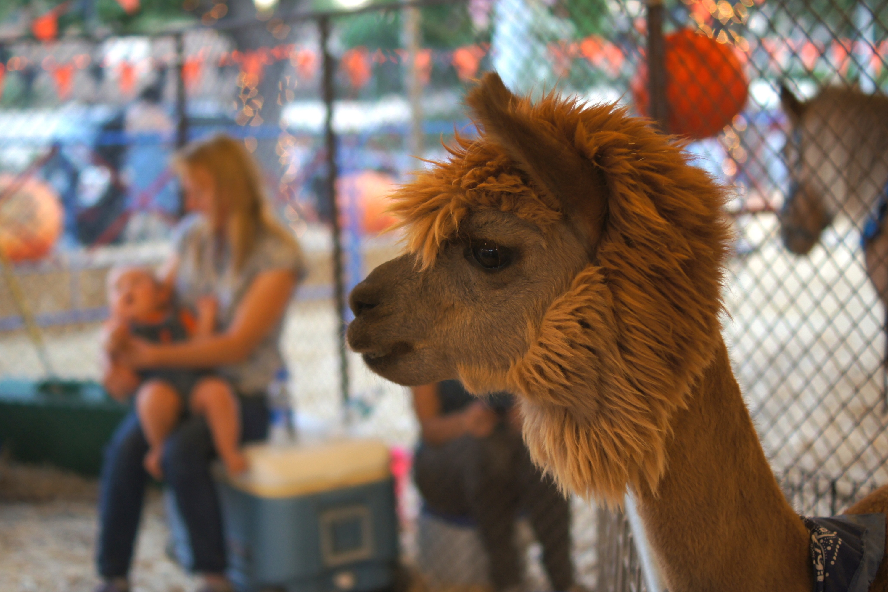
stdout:
[[410,390],[413,391],[413,408],[425,444],[440,446],[465,434],[489,436],[499,421],[496,413],[490,411],[482,401],[472,402],[463,411],[441,415],[437,384],[426,384]]

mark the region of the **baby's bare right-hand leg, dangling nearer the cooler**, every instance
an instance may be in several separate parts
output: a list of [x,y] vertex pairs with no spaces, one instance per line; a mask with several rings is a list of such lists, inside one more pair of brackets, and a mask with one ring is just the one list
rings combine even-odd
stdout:
[[237,397],[225,380],[206,378],[191,393],[191,411],[207,418],[213,444],[230,475],[247,469],[241,452],[241,418]]

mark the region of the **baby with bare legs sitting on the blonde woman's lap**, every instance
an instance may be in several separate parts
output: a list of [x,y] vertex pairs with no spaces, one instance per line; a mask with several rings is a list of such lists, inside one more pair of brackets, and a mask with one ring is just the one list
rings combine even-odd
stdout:
[[[215,300],[201,300],[195,318],[185,309],[170,306],[168,291],[145,268],[112,269],[107,292],[111,318],[106,331],[112,340],[127,331],[155,343],[199,340],[213,332]],[[145,468],[151,476],[162,478],[163,443],[186,411],[206,418],[229,474],[236,475],[247,468],[238,445],[241,425],[237,398],[225,380],[208,371],[183,368],[157,368],[133,374],[116,364],[113,356],[108,362],[106,384],[139,385],[136,412],[148,441]]]

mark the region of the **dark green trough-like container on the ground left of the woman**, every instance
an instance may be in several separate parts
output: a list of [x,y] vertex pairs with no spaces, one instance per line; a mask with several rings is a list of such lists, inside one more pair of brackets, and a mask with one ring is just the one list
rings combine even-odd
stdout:
[[0,380],[0,447],[12,460],[99,475],[128,409],[95,382]]

